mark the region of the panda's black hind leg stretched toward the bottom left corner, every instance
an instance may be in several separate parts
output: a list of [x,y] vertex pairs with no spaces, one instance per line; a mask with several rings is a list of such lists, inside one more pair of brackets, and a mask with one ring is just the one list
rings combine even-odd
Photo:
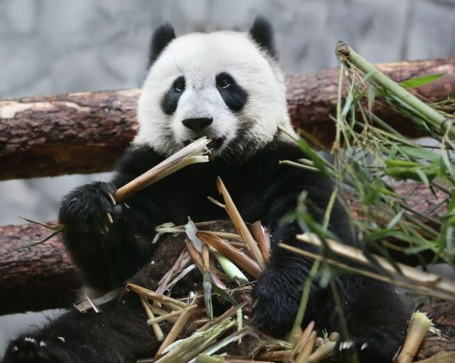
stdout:
[[72,310],[26,332],[10,343],[2,362],[136,362],[156,353],[160,342],[137,296],[101,308],[99,313]]

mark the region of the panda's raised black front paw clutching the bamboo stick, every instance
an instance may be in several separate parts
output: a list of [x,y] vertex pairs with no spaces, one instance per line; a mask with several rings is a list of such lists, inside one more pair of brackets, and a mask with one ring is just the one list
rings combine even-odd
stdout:
[[108,232],[113,223],[116,191],[113,184],[104,182],[77,187],[60,203],[60,223],[81,233]]

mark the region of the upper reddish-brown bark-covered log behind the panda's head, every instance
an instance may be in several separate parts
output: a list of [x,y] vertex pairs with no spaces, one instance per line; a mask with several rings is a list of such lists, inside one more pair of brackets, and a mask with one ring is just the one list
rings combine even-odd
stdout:
[[[396,81],[445,72],[418,94],[430,100],[455,96],[455,58],[379,65]],[[286,78],[295,126],[326,146],[333,141],[338,69]],[[140,90],[83,92],[0,101],[0,180],[92,173],[112,169],[137,130]],[[408,137],[424,135],[387,108],[374,112]]]

